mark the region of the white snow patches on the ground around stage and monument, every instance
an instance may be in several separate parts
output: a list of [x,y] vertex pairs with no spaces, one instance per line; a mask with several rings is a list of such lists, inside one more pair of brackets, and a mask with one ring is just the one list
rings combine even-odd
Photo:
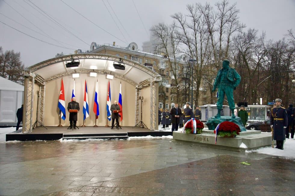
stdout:
[[[179,129],[180,130],[180,129]],[[15,127],[8,127],[8,128],[0,128],[0,143],[5,142],[6,140],[6,134],[11,133],[15,131]],[[162,128],[162,125],[159,125],[159,130],[156,131],[171,131],[171,126],[169,128]],[[132,139],[172,139],[172,136],[162,136],[162,137],[152,137],[150,135],[148,136],[142,136],[142,137],[129,137],[128,140]],[[103,140],[103,139],[87,139],[87,140],[60,140],[63,142],[72,142],[72,141],[95,141],[95,140]],[[8,141],[13,142],[13,141]],[[275,144],[275,143],[274,143]],[[275,145],[276,146],[276,145]],[[243,146],[240,146],[243,147]],[[246,153],[250,152],[257,152],[267,155],[274,155],[274,156],[280,156],[284,158],[293,158],[295,159],[295,139],[286,139],[284,142],[284,150],[272,148],[272,146],[262,147],[257,150],[247,150]]]

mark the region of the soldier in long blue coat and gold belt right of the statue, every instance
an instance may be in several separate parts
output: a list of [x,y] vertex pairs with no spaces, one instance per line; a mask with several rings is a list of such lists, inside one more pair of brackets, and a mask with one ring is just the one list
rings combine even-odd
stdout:
[[284,140],[286,139],[285,128],[288,125],[288,117],[285,108],[281,107],[282,100],[275,99],[275,107],[271,110],[270,124],[273,128],[274,140],[277,142],[275,148],[284,149]]

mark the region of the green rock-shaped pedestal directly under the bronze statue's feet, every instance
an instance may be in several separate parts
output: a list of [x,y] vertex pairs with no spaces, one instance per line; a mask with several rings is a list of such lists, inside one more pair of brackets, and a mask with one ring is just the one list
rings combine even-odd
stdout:
[[220,118],[211,117],[210,119],[208,119],[207,122],[205,122],[205,124],[207,125],[209,130],[214,130],[219,123],[224,121],[234,122],[240,127],[241,132],[246,131],[246,128],[241,121],[241,118],[238,116],[236,116],[235,118],[231,118],[231,116],[221,116]]

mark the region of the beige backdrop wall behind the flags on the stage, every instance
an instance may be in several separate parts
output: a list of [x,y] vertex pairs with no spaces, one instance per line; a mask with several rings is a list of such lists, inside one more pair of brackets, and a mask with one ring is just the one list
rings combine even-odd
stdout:
[[[86,126],[95,125],[95,113],[93,112],[93,103],[95,95],[95,84],[98,80],[98,104],[99,104],[99,116],[96,120],[96,125],[104,126],[108,123],[111,125],[111,121],[107,120],[107,88],[108,81],[110,81],[111,89],[111,103],[115,100],[119,100],[120,92],[120,82],[122,83],[122,107],[123,107],[123,120],[120,121],[122,126],[134,126],[135,125],[135,86],[132,84],[120,80],[114,77],[113,80],[106,79],[104,74],[97,74],[97,77],[90,77],[89,74],[80,74],[79,78],[76,78],[76,101],[79,102],[80,111],[78,113],[77,126],[83,125],[83,101],[84,101],[84,91],[85,91],[85,79],[87,83],[88,92],[88,107],[89,107],[89,117],[85,119],[84,124]],[[72,90],[74,79],[72,75],[63,77],[64,91],[65,91],[65,107],[66,107],[66,120],[61,119],[61,125],[69,126],[69,112],[67,111],[67,105],[72,98]],[[38,85],[35,85],[37,89]],[[45,106],[44,106],[44,125],[45,126],[57,126],[59,125],[59,108],[58,108],[58,98],[61,89],[61,78],[52,80],[45,85]],[[144,90],[144,98],[148,99],[150,104],[150,88]],[[36,99],[37,100],[37,97]],[[37,104],[36,101],[34,105]],[[34,106],[36,108],[36,106]],[[147,111],[146,111],[147,110]],[[150,105],[143,104],[143,116],[144,122],[148,122],[146,125],[150,128]],[[36,119],[36,112],[33,113]],[[147,121],[148,120],[148,121]]]

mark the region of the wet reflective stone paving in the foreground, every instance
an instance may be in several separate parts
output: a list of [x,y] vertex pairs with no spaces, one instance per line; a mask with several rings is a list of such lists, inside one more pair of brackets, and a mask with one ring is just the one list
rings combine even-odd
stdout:
[[0,195],[295,195],[294,160],[171,139],[10,142],[0,149]]

